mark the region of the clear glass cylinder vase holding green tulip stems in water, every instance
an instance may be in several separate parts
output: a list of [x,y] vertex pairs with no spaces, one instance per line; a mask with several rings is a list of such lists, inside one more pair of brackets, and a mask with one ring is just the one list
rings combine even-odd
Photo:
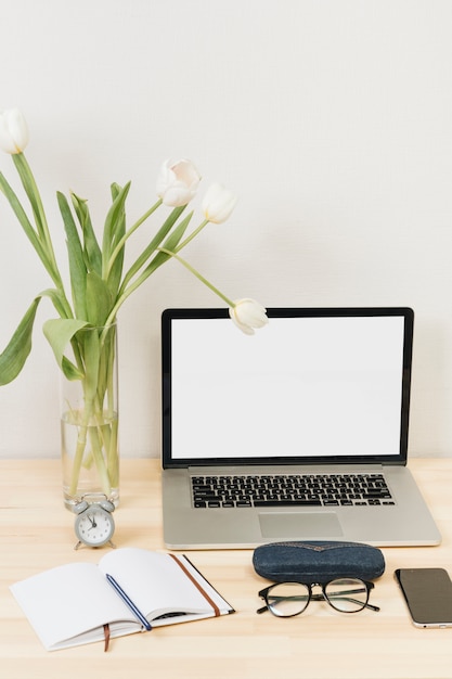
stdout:
[[[87,328],[73,337],[75,375],[61,381],[63,498],[119,503],[117,328]],[[66,371],[67,372],[67,371]],[[74,372],[74,371],[73,371]]]

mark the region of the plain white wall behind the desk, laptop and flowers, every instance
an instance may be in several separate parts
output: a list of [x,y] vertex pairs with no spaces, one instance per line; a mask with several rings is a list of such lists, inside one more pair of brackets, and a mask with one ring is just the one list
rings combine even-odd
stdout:
[[[0,108],[64,261],[56,190],[102,222],[112,181],[132,219],[160,163],[192,158],[240,195],[186,257],[267,306],[410,305],[413,454],[452,454],[452,2],[0,0]],[[15,181],[11,158],[0,170]],[[159,220],[155,222],[159,223]],[[150,230],[131,246],[138,252]],[[62,265],[64,268],[64,265]],[[49,285],[0,196],[0,345]],[[177,262],[120,313],[124,454],[159,453],[159,315],[219,300]],[[0,389],[0,456],[57,456],[59,372],[40,326]],[[225,420],[224,426],[230,426]]]

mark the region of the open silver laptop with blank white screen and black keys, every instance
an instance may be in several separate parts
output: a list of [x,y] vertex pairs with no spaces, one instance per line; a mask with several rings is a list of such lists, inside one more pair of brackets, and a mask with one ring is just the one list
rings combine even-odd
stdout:
[[280,540],[438,545],[406,467],[410,308],[162,317],[163,523],[170,549]]

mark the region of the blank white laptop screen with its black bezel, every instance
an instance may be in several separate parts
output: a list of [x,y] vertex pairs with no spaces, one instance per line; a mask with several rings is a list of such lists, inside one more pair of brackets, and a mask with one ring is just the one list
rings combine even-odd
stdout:
[[164,466],[404,463],[413,312],[227,309],[163,315]]

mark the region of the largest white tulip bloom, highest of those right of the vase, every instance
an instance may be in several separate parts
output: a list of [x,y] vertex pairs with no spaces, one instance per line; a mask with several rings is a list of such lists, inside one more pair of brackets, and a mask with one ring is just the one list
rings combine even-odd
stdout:
[[165,205],[181,207],[196,195],[201,175],[190,161],[166,161],[157,179],[157,195]]

